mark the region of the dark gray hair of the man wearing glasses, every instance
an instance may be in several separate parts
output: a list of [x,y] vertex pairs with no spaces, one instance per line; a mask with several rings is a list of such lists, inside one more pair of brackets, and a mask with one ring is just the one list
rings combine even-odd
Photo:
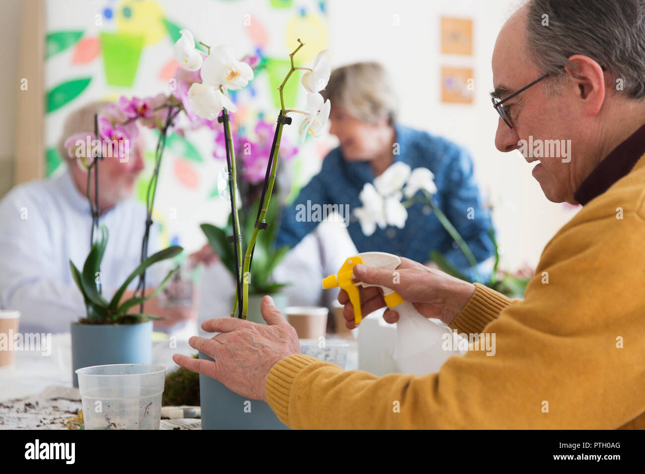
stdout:
[[[645,0],[530,0],[527,47],[544,74],[563,74],[581,54],[622,79],[624,94],[645,99]],[[548,15],[545,17],[544,15]],[[543,20],[548,26],[542,26]]]

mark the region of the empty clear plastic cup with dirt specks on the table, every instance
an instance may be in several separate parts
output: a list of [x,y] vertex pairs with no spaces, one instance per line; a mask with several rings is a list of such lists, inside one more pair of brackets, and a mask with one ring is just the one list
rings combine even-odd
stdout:
[[112,364],[76,370],[86,430],[159,430],[164,366]]

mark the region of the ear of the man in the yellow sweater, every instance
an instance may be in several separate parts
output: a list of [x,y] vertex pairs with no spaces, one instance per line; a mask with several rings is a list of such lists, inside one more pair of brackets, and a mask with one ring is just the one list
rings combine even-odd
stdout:
[[577,98],[581,101],[584,115],[590,117],[600,112],[604,103],[606,88],[602,66],[595,60],[582,54],[574,54],[569,58],[575,68],[567,65],[564,70],[570,75]]

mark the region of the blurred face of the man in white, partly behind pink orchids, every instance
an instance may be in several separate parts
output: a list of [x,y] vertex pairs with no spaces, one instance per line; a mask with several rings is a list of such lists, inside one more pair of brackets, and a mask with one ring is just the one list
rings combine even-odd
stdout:
[[[144,140],[141,135],[130,142],[129,153],[119,157],[104,158],[99,164],[99,199],[112,205],[131,197],[134,184],[145,168]],[[123,161],[123,163],[122,163]]]

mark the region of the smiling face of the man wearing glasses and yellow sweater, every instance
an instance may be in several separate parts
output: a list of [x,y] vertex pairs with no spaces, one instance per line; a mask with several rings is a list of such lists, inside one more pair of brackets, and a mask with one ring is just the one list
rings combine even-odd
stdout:
[[[502,100],[542,76],[542,72],[524,54],[526,14],[522,10],[525,9],[522,8],[509,19],[495,43],[493,84],[496,90],[499,89],[499,98]],[[573,193],[586,177],[582,163],[582,117],[576,113],[575,88],[565,86],[558,95],[547,96],[544,86],[549,81],[553,81],[553,78],[542,79],[503,104],[504,111],[511,117],[513,128],[509,128],[498,117],[495,146],[501,152],[510,152],[519,148],[521,140],[530,143],[532,137],[535,151],[535,144],[539,141],[548,144],[551,143],[548,141],[557,140],[562,144],[564,140],[568,156],[564,155],[563,149],[556,157],[545,157],[544,154],[535,157],[535,153],[531,156],[528,145],[524,155],[528,163],[538,163],[533,168],[533,177],[540,183],[547,199],[575,202]],[[491,112],[495,113],[494,110]],[[563,159],[568,163],[563,163]]]

